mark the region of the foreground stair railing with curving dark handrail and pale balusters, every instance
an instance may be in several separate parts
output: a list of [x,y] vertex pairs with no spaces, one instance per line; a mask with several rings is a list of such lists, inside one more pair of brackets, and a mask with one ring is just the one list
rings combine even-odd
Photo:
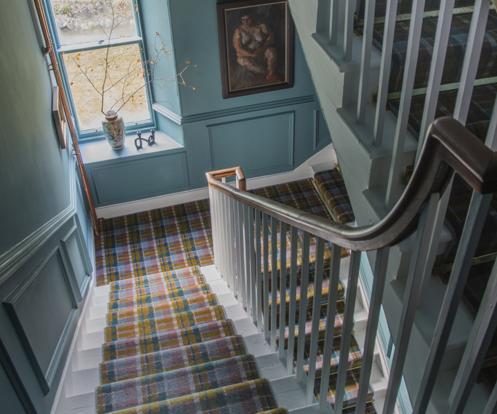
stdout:
[[[425,413],[431,397],[440,362],[447,346],[447,340],[454,322],[457,306],[462,295],[471,259],[474,256],[485,215],[489,208],[492,193],[497,189],[497,152],[492,152],[452,118],[440,118],[429,128],[425,146],[418,165],[413,172],[405,193],[393,206],[391,212],[378,224],[351,228],[335,221],[311,215],[289,206],[259,197],[245,191],[245,179],[241,168],[207,172],[210,197],[215,265],[220,270],[231,291],[240,304],[252,317],[260,333],[278,351],[286,364],[287,374],[295,375],[298,381],[306,383],[307,404],[315,404],[321,413],[329,412],[327,402],[328,380],[316,380],[315,364],[318,353],[318,340],[324,336],[323,361],[331,360],[336,302],[340,279],[341,248],[351,250],[344,320],[341,333],[340,364],[335,388],[333,412],[341,413],[344,389],[347,380],[347,361],[353,328],[353,310],[358,286],[360,255],[363,251],[376,250],[373,263],[373,286],[367,320],[366,337],[360,371],[360,386],[355,413],[364,413],[367,404],[369,380],[373,364],[374,346],[378,328],[378,317],[382,303],[384,284],[387,282],[389,249],[406,239],[416,230],[413,259],[407,277],[405,296],[398,333],[396,351],[393,355],[384,414],[391,414],[395,408],[398,389],[402,380],[407,348],[422,293],[423,275],[429,257],[429,240],[433,233],[433,223],[440,207],[440,195],[447,190],[447,184],[457,171],[474,188],[469,213],[461,242],[456,254],[447,293],[438,317],[436,331],[429,351],[429,359],[414,402],[414,413]],[[237,186],[217,181],[235,175]],[[289,226],[290,252],[286,253],[287,226]],[[278,229],[279,227],[279,229]],[[278,239],[279,234],[279,239]],[[262,235],[262,237],[261,237]],[[311,238],[315,244],[311,244]],[[302,240],[301,246],[299,245]],[[261,246],[262,241],[262,246]],[[278,242],[280,246],[278,246]],[[329,295],[327,299],[327,319],[324,328],[320,326],[320,306],[322,304],[322,280],[324,273],[324,250],[329,246]],[[313,311],[311,317],[311,342],[309,370],[304,373],[304,346],[306,331],[307,290],[301,289],[300,306],[297,308],[298,255],[300,262],[301,286],[309,281],[309,253],[315,251],[315,284]],[[271,249],[271,254],[269,250]],[[269,267],[271,262],[271,268]],[[289,263],[288,263],[289,262]],[[285,270],[289,267],[289,322],[286,324],[286,282]],[[277,268],[280,268],[280,311],[277,321]],[[270,272],[269,270],[273,269]],[[269,282],[271,277],[271,296]],[[472,340],[467,344],[461,364],[461,374],[456,379],[449,400],[450,413],[462,411],[476,373],[480,370],[481,358],[489,344],[489,337],[497,324],[497,265],[494,265],[485,298],[476,317]],[[270,306],[270,297],[271,304]],[[492,307],[493,306],[493,307]],[[271,322],[270,322],[271,319]],[[277,323],[279,322],[279,323]],[[270,325],[271,324],[271,325]],[[298,326],[297,353],[295,368],[295,326]],[[286,341],[278,341],[287,336]],[[473,334],[473,333],[472,333]],[[286,342],[286,344],[285,344]],[[278,345],[278,346],[277,346]],[[321,378],[329,378],[330,365],[323,364]],[[318,384],[319,383],[319,384]],[[323,396],[319,402],[314,397],[315,387]],[[469,390],[469,391],[468,391]],[[497,388],[489,401],[497,400]],[[488,408],[487,407],[487,408]],[[491,411],[488,411],[489,413]]]

